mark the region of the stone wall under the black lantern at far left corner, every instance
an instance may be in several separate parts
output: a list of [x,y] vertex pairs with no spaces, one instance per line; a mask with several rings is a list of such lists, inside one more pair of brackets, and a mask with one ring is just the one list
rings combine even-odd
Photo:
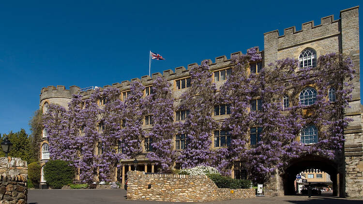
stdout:
[[28,164],[20,158],[0,158],[0,204],[27,204]]

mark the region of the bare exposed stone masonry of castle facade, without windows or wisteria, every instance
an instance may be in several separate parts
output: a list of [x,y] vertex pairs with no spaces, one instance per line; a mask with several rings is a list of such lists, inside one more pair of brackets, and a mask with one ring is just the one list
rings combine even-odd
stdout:
[[[282,58],[299,58],[300,53],[305,48],[311,48],[316,51],[317,56],[328,53],[342,53],[351,58],[356,71],[353,79],[354,90],[352,92],[352,100],[349,102],[350,107],[345,110],[345,117],[351,118],[345,129],[345,148],[342,155],[339,156],[335,167],[338,175],[340,196],[345,197],[361,197],[363,198],[363,137],[362,137],[362,105],[360,98],[360,49],[359,49],[359,7],[352,7],[340,12],[340,18],[334,19],[333,15],[321,18],[319,25],[315,25],[314,21],[309,21],[302,24],[301,30],[296,30],[295,27],[290,27],[284,30],[284,34],[280,35],[278,30],[273,30],[264,33],[264,50],[258,50],[262,56],[262,63],[267,66],[269,63]],[[241,52],[232,53],[230,56],[240,55]],[[226,56],[215,58],[214,61],[208,59],[211,71],[226,70],[230,68],[230,59]],[[175,105],[177,106],[181,100],[181,94],[186,88],[177,89],[176,81],[190,77],[189,69],[197,63],[192,63],[185,67],[177,67],[175,70],[166,70],[163,73],[153,73],[151,76],[142,76],[134,78],[131,81],[122,81],[100,87],[102,91],[106,87],[117,87],[125,94],[130,90],[130,84],[133,81],[140,81],[145,87],[151,86],[153,81],[158,76],[165,77],[171,84]],[[214,82],[214,81],[213,81]],[[224,81],[215,82],[217,89]],[[303,87],[301,87],[303,88]],[[58,103],[67,107],[72,94],[80,93],[83,99],[90,97],[94,90],[82,91],[79,87],[72,86],[70,89],[65,89],[64,86],[48,86],[41,90],[40,108],[43,108],[45,102]],[[216,121],[223,121],[227,116],[212,116]],[[151,130],[151,125],[144,125],[145,131]],[[213,139],[213,138],[211,138]],[[173,141],[175,141],[175,136]],[[46,138],[43,138],[42,143],[46,143]],[[213,149],[214,147],[211,146]],[[96,151],[96,150],[95,150]],[[145,157],[146,152],[140,155],[139,160],[141,165],[145,165],[145,171],[154,172],[154,164]],[[44,160],[43,160],[44,161]],[[124,182],[125,171],[131,170],[132,160],[121,160],[122,164],[122,183]],[[126,165],[126,167],[124,166]],[[152,167],[151,167],[152,165]],[[128,168],[127,168],[128,166]],[[148,170],[150,169],[152,170]],[[115,169],[117,171],[117,168]],[[233,177],[232,168],[232,177]],[[303,171],[303,169],[302,169]],[[268,185],[269,194],[282,195],[284,194],[284,186],[282,185],[282,177],[279,173],[272,177],[272,183]]]

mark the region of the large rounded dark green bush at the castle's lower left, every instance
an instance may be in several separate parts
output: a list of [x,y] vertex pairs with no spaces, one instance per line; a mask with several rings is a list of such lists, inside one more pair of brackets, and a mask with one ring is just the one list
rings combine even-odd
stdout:
[[61,189],[75,178],[75,169],[67,161],[49,160],[44,169],[46,183],[52,189]]

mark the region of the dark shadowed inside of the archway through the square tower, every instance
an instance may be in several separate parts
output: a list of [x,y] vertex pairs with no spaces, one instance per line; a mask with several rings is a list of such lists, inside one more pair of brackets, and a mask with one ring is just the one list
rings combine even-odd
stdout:
[[[333,196],[338,195],[338,181],[339,178],[343,178],[343,175],[338,175],[338,165],[332,160],[318,156],[306,156],[289,162],[289,165],[285,169],[285,173],[280,175],[285,195],[295,194],[294,182],[296,180],[296,175],[308,169],[318,169],[331,175],[330,179],[333,182]],[[341,196],[344,195],[342,194]]]

